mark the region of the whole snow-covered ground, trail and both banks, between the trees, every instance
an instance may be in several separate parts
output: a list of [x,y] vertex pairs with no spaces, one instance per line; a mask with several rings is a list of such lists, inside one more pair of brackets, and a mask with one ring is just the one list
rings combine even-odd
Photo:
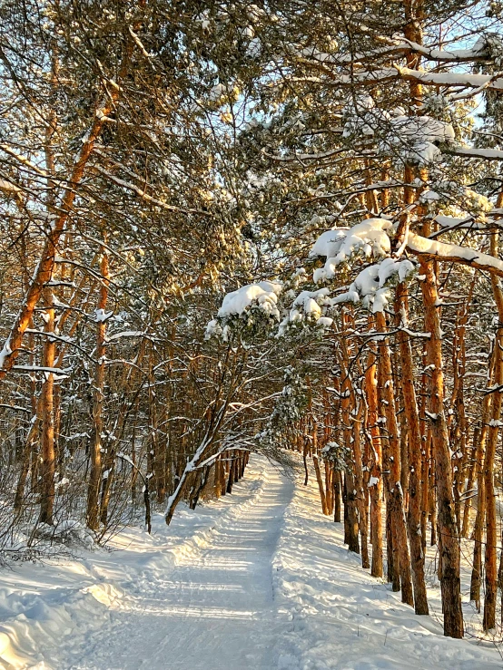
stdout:
[[314,477],[253,456],[232,495],[180,510],[114,551],[0,573],[5,670],[501,668],[490,643],[442,636],[360,568]]

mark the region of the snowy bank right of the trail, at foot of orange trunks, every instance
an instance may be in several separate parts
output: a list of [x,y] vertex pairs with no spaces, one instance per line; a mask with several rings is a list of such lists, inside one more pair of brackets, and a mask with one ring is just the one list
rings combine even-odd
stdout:
[[[492,643],[443,636],[438,587],[429,589],[432,616],[418,617],[389,584],[370,577],[360,556],[344,547],[343,526],[323,517],[320,507],[311,473],[308,488],[297,483],[273,561],[279,607],[289,612],[293,629],[288,637],[297,646],[291,658],[281,659],[281,668],[503,667]],[[470,607],[467,602],[465,614]]]

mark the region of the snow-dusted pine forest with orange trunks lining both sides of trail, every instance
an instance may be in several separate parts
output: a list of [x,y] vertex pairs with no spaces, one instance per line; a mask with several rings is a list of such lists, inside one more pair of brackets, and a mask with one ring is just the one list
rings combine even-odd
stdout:
[[[0,0],[0,573],[169,539],[268,463],[503,649],[502,21]],[[353,667],[287,656],[228,667]]]

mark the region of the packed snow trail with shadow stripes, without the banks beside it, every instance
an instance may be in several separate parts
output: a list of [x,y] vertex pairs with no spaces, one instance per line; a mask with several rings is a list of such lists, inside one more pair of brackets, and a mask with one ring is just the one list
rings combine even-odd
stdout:
[[271,561],[292,488],[269,468],[267,488],[230,510],[173,571],[120,584],[129,597],[112,626],[67,647],[59,662],[75,670],[276,667],[289,623],[275,606]]

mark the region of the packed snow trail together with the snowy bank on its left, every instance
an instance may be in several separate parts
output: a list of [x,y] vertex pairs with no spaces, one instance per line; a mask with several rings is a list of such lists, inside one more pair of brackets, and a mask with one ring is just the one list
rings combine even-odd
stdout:
[[[294,483],[255,459],[232,495],[111,553],[0,573],[0,668],[271,670],[291,628],[271,564]],[[10,615],[10,616],[9,616]]]

